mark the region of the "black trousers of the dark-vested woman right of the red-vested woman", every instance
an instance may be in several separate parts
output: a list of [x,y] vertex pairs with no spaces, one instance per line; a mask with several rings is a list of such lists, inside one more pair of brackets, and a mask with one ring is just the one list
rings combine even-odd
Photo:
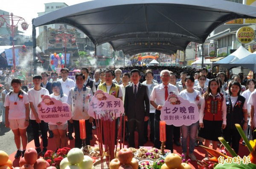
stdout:
[[239,134],[238,130],[225,128],[223,130],[223,137],[229,145],[230,143],[232,143],[231,147],[235,150],[237,154],[239,150],[239,141],[241,139],[241,135]]

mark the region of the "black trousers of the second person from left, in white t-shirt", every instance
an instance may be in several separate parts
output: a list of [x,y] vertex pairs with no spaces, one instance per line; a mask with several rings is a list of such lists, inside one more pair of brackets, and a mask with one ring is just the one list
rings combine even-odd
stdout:
[[35,120],[31,120],[31,126],[33,130],[33,135],[34,135],[35,147],[40,147],[39,127],[42,134],[43,146],[47,147],[48,146],[48,138],[47,138],[48,123],[44,122],[43,120],[41,120],[41,123],[37,123]]

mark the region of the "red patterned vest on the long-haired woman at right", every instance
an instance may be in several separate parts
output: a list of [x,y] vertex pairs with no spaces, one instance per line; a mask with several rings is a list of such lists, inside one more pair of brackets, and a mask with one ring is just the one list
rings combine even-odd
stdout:
[[208,96],[205,98],[205,108],[204,108],[204,120],[209,121],[222,121],[222,104],[223,104],[223,94],[219,93],[221,97],[215,98],[213,96]]

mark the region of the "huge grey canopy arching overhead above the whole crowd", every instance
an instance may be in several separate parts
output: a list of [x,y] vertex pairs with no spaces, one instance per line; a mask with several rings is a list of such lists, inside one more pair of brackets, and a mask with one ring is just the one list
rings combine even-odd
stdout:
[[34,31],[42,25],[72,25],[94,45],[109,42],[124,54],[171,55],[185,51],[189,42],[203,43],[227,21],[255,17],[255,7],[224,0],[92,0],[44,14],[32,24]]

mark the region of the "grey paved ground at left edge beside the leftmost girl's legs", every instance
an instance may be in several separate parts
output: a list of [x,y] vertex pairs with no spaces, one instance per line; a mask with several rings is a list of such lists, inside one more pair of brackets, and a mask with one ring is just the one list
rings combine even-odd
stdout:
[[[29,131],[29,129],[30,128],[28,128],[27,131]],[[27,135],[28,141],[31,141],[31,132],[27,132]],[[8,155],[17,151],[12,130],[10,130],[10,128],[6,128],[2,123],[0,124],[0,150],[5,151]]]

